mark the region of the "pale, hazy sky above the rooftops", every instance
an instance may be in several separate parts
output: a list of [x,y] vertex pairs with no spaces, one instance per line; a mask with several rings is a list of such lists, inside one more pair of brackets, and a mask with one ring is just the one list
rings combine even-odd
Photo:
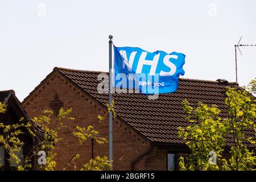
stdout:
[[[0,0],[0,90],[20,101],[54,67],[108,71],[117,47],[186,55],[183,78],[236,81],[234,45],[256,44],[255,0]],[[256,77],[256,47],[237,52],[238,83]]]

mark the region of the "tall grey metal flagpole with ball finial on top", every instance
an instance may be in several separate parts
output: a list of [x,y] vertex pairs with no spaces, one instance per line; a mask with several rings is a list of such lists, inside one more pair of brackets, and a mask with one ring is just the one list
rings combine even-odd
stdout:
[[[109,106],[112,105],[112,39],[109,35]],[[113,126],[112,126],[112,109],[109,111],[109,163],[110,170],[113,171]]]

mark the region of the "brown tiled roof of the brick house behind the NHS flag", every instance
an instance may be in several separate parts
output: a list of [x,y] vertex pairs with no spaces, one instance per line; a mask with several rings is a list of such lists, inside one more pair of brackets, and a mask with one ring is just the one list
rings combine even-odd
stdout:
[[[97,91],[100,82],[97,77],[104,72],[57,67],[53,69],[53,72],[60,73],[101,104],[108,103],[109,94],[100,94]],[[179,78],[179,88],[176,92],[159,94],[156,100],[148,100],[147,95],[139,93],[114,93],[114,110],[118,118],[137,130],[151,143],[183,144],[184,141],[177,137],[177,127],[188,126],[188,122],[184,119],[181,102],[187,100],[192,106],[196,106],[199,101],[208,105],[215,104],[222,111],[220,116],[225,116],[228,109],[224,104],[226,86],[240,88],[236,82],[222,79],[207,81]],[[30,93],[30,96],[34,94],[35,90]],[[228,142],[231,141],[228,140]]]

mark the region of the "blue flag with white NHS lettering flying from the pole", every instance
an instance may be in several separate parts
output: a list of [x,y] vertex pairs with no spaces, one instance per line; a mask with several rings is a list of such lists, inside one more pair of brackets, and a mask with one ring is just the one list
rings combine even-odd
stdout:
[[147,52],[138,47],[114,46],[115,88],[138,89],[143,94],[175,92],[184,75],[183,53]]

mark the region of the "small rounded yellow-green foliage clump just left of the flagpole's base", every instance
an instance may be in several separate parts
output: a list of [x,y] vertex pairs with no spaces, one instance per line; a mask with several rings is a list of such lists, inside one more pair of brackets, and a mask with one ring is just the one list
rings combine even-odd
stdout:
[[81,171],[106,171],[109,170],[111,165],[107,156],[101,158],[97,156],[95,159],[91,159]]

